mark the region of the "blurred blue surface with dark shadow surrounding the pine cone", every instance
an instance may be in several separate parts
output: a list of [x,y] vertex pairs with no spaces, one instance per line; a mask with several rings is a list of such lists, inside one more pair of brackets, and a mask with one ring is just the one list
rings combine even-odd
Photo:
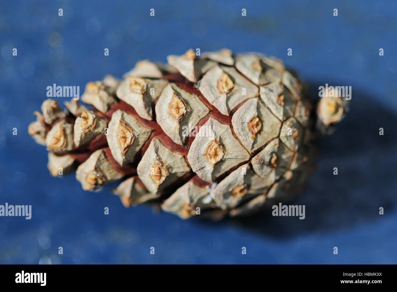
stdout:
[[[396,263],[396,13],[395,1],[1,1],[0,204],[32,205],[33,215],[0,217],[0,263]],[[325,83],[352,86],[351,112],[293,201],[306,219],[183,221],[50,176],[45,147],[27,134],[48,85],[82,93],[138,60],[223,47],[283,59],[313,96]]]

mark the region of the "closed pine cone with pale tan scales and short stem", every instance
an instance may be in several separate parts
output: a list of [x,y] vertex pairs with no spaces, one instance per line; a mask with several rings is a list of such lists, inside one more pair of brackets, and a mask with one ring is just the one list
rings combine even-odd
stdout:
[[161,204],[185,219],[252,214],[299,192],[318,138],[341,120],[340,98],[311,102],[281,60],[191,49],[169,65],[140,61],[122,81],[89,82],[81,100],[43,102],[29,134],[53,176],[84,190],[125,179],[123,205]]

